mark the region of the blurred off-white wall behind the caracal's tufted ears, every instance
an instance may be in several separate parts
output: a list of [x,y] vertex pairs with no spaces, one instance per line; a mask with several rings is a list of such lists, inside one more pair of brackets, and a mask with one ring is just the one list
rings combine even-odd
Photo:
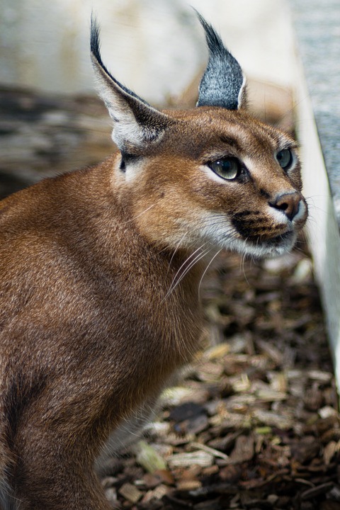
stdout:
[[191,6],[220,30],[249,77],[292,84],[286,0],[0,0],[0,83],[92,91],[93,8],[107,67],[137,94],[161,103],[179,94],[205,63]]

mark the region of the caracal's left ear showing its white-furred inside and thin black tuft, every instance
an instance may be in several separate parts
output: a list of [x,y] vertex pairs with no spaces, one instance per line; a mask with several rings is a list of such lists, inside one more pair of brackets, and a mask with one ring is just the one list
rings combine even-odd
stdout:
[[171,120],[119,83],[101,60],[99,28],[91,18],[91,60],[98,92],[113,119],[113,142],[120,151],[135,154],[157,143]]

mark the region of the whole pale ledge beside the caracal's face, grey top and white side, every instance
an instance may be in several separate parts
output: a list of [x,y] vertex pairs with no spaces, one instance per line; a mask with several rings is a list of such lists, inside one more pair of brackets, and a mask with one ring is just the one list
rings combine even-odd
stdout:
[[308,236],[340,387],[340,4],[290,0]]

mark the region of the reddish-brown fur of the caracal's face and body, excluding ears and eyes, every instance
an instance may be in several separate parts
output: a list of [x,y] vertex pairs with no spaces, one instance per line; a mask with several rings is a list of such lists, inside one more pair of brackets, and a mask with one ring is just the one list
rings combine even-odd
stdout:
[[[0,204],[2,510],[108,510],[96,456],[198,346],[206,263],[183,276],[196,254],[293,244],[270,205],[305,203],[298,161],[285,172],[275,159],[293,140],[243,110],[164,115],[162,140],[126,172],[113,154]],[[225,155],[249,178],[212,175]]]

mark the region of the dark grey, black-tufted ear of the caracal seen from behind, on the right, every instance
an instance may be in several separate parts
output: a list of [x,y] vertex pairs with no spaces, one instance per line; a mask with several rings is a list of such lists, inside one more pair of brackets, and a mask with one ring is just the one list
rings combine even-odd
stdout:
[[244,108],[246,79],[239,62],[223,45],[215,29],[200,16],[200,13],[197,15],[205,30],[209,49],[208,66],[200,81],[197,106],[222,106],[228,110]]

